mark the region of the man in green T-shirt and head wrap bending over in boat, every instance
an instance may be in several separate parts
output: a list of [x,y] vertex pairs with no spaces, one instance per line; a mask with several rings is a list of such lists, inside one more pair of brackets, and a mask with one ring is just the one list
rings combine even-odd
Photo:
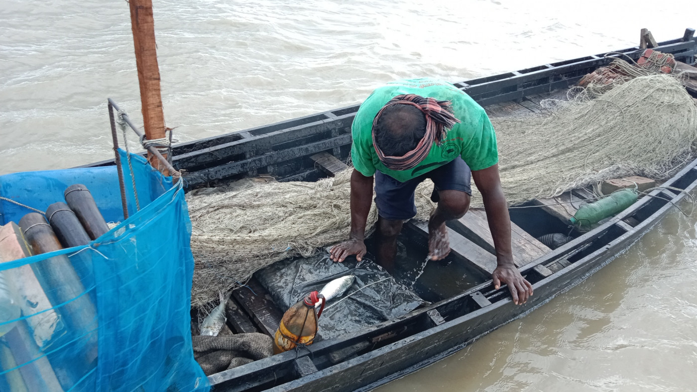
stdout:
[[404,79],[377,88],[360,105],[351,129],[351,235],[332,247],[342,262],[366,253],[364,237],[375,182],[378,262],[394,269],[397,235],[416,214],[414,191],[434,182],[438,203],[429,219],[429,258],[450,253],[445,222],[470,206],[470,176],[482,194],[498,266],[494,287],[507,284],[515,304],[533,295],[533,285],[513,264],[511,222],[498,175],[496,134],[487,113],[466,93],[438,79]]

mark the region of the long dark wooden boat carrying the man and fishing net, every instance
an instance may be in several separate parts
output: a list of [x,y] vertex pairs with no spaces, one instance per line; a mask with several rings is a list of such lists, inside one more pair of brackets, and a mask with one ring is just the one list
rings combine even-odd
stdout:
[[[686,70],[694,64],[697,40],[687,29],[683,38],[660,42],[655,48],[675,55]],[[610,63],[615,56],[635,60],[643,52],[630,47],[610,54],[574,58],[455,83],[479,102],[489,116],[508,116],[539,110],[539,101],[564,97],[583,75]],[[697,71],[697,69],[694,69]],[[697,98],[697,75],[686,88]],[[223,185],[256,175],[279,181],[313,181],[332,175],[346,165],[351,147],[351,122],[358,105],[317,113],[273,125],[182,143],[173,148],[173,164],[183,171],[188,189]],[[88,166],[113,164],[105,161]],[[697,185],[697,160],[684,166],[663,186],[691,191]],[[585,198],[587,190],[569,196]],[[570,242],[550,249],[535,240],[539,228],[546,233],[566,228],[561,219],[572,207],[511,210],[516,265],[535,295],[525,306],[514,306],[507,288],[494,290],[489,273],[496,259],[482,212],[468,212],[452,222],[450,258],[480,274],[480,283],[446,295],[431,288],[436,300],[394,320],[321,340],[238,368],[210,375],[215,391],[367,391],[411,373],[461,350],[478,337],[523,316],[561,292],[583,281],[636,242],[684,193],[655,189],[624,212],[588,233],[576,233]],[[547,201],[535,201],[551,204]],[[572,208],[572,210],[569,210]],[[561,219],[560,219],[561,218]],[[424,246],[422,224],[406,225],[406,235]],[[418,244],[415,246],[419,246]],[[492,264],[493,263],[493,264]],[[270,296],[254,279],[254,290],[236,290],[227,304],[233,333],[274,333],[282,315]],[[427,288],[429,289],[429,288]]]

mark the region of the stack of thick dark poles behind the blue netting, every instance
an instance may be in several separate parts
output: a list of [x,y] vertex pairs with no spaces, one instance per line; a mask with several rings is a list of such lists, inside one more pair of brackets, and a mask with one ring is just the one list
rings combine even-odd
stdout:
[[[84,185],[68,187],[65,201],[30,212],[19,225],[0,227],[0,263],[89,244],[109,228]],[[1,265],[0,265],[1,267]],[[0,271],[0,369],[12,391],[61,391],[75,386],[97,359],[97,311],[86,292],[91,260],[65,254]],[[12,321],[15,320],[15,321]],[[66,363],[51,362],[47,347],[75,339],[85,350]]]

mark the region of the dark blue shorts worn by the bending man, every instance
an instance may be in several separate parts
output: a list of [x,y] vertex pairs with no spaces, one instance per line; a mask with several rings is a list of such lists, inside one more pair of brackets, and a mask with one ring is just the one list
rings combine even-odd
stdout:
[[472,172],[461,157],[407,182],[399,182],[380,171],[375,172],[375,204],[378,214],[385,219],[406,220],[415,217],[414,191],[423,180],[430,178],[434,184],[431,200],[438,202],[438,191],[464,191],[472,196],[470,180]]

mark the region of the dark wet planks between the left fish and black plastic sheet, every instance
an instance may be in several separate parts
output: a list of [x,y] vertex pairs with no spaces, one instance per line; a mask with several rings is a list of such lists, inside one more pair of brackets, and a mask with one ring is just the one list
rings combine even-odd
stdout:
[[252,315],[252,321],[261,333],[274,336],[283,313],[273,303],[266,288],[263,288],[256,279],[250,279],[246,287],[233,290],[232,297]]

